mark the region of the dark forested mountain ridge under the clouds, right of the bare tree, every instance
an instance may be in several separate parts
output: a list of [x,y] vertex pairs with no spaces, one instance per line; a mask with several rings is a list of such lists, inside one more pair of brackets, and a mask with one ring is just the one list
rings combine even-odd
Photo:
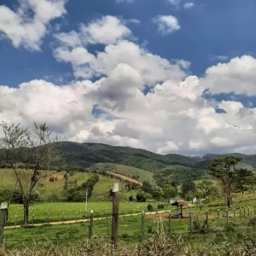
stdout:
[[67,162],[79,168],[96,163],[115,163],[137,167],[149,172],[158,172],[166,166],[185,166],[206,169],[207,162],[214,157],[236,155],[243,158],[242,165],[248,169],[256,167],[256,155],[247,154],[206,154],[204,157],[188,157],[181,154],[155,154],[144,149],[111,146],[100,143],[61,143],[61,152]]

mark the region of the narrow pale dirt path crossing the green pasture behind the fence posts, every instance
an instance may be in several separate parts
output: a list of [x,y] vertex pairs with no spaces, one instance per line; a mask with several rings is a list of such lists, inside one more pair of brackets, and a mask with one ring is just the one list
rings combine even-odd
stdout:
[[[162,213],[167,213],[168,211],[159,211],[159,212],[146,212],[145,215],[155,215],[155,214],[162,214]],[[141,215],[142,213],[134,213],[134,214],[125,214],[125,215],[120,215],[119,218],[122,217],[129,217],[129,216],[137,216],[137,215]],[[97,220],[102,220],[102,219],[106,219],[106,217],[102,217],[102,218],[94,218],[94,221]],[[86,223],[89,222],[89,219],[79,219],[79,220],[67,220],[67,221],[58,221],[58,222],[49,222],[49,225],[60,225],[60,224],[77,224],[77,223]],[[44,226],[48,223],[39,223],[39,224],[27,224],[26,227],[40,227],[40,226]],[[12,230],[12,229],[18,229],[24,227],[24,225],[16,225],[16,226],[6,226],[4,229],[5,230]]]

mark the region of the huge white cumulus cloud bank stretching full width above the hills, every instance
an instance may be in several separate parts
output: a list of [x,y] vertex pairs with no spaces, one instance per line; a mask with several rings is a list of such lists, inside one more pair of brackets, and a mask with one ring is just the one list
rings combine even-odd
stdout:
[[[107,33],[109,27],[116,31]],[[48,121],[53,131],[72,141],[160,154],[251,152],[256,108],[235,100],[207,100],[204,93],[234,90],[255,95],[253,57],[234,58],[196,77],[189,74],[188,61],[154,55],[127,41],[129,35],[124,21],[112,16],[83,25],[79,32],[56,35],[60,42],[54,50],[56,60],[70,63],[80,81],[56,85],[32,80],[16,89],[0,86],[0,119],[22,125],[33,119]],[[89,44],[105,45],[95,53]],[[147,94],[145,85],[151,88]],[[224,113],[216,113],[216,108]]]

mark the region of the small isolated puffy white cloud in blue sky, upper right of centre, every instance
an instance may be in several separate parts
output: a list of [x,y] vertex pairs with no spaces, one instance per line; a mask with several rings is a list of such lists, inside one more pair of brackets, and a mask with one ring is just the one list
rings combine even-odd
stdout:
[[172,34],[181,28],[177,18],[172,15],[160,15],[154,18],[153,21],[158,26],[158,30],[163,36]]

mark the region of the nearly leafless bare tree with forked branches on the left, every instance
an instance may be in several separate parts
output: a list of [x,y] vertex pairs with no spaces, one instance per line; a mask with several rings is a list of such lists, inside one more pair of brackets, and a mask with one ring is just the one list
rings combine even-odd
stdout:
[[[60,138],[51,135],[46,123],[34,123],[32,131],[6,122],[1,127],[0,160],[15,172],[23,198],[24,224],[28,224],[29,206],[40,181],[53,175],[49,171],[61,169]],[[26,168],[20,168],[20,164]]]

